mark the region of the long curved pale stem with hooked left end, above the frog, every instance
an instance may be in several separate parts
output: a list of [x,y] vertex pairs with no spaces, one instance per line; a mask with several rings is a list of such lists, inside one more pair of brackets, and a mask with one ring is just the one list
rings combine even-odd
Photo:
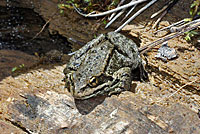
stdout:
[[84,16],[84,17],[100,17],[100,16],[104,16],[104,15],[107,15],[107,14],[110,14],[110,13],[113,13],[113,12],[117,12],[117,11],[122,10],[122,9],[124,9],[124,8],[128,8],[128,7],[130,7],[130,6],[133,6],[133,5],[136,5],[136,4],[145,2],[145,1],[147,1],[147,0],[138,0],[138,1],[135,1],[135,2],[130,2],[130,3],[126,4],[126,5],[117,7],[117,8],[112,9],[112,10],[108,10],[108,11],[106,11],[106,12],[102,12],[102,13],[99,13],[99,14],[90,14],[90,15],[81,13],[81,12],[79,11],[79,9],[78,9],[74,4],[72,4],[72,5],[73,5],[74,9],[76,10],[76,12],[77,12],[78,14]]

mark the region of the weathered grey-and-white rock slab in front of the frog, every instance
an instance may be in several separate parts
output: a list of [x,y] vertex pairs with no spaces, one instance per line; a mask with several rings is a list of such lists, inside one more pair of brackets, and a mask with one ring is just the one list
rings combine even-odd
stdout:
[[200,131],[198,115],[186,107],[147,104],[147,100],[131,92],[79,102],[69,94],[54,91],[24,98],[13,103],[12,122],[33,133],[187,134]]

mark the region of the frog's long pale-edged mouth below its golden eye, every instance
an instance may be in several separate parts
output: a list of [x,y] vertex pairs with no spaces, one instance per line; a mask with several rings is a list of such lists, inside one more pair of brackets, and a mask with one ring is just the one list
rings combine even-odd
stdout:
[[115,91],[115,88],[119,86],[119,79],[113,79],[112,81],[107,81],[106,83],[99,84],[96,87],[87,86],[83,92],[76,93],[73,95],[75,99],[89,99],[99,95],[108,95],[110,92]]

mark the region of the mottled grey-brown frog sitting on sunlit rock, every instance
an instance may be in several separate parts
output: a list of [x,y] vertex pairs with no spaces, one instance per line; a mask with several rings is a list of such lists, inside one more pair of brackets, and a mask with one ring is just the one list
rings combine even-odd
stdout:
[[119,94],[130,90],[139,69],[145,70],[136,43],[117,32],[100,34],[77,50],[64,69],[65,88],[75,99]]

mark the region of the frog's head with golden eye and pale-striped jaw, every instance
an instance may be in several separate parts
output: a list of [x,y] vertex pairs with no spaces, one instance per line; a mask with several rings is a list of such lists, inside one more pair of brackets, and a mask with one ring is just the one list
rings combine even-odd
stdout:
[[75,99],[88,99],[97,95],[104,94],[108,88],[117,84],[111,76],[91,76],[84,79],[84,76],[77,75],[71,71],[65,75],[65,87]]

